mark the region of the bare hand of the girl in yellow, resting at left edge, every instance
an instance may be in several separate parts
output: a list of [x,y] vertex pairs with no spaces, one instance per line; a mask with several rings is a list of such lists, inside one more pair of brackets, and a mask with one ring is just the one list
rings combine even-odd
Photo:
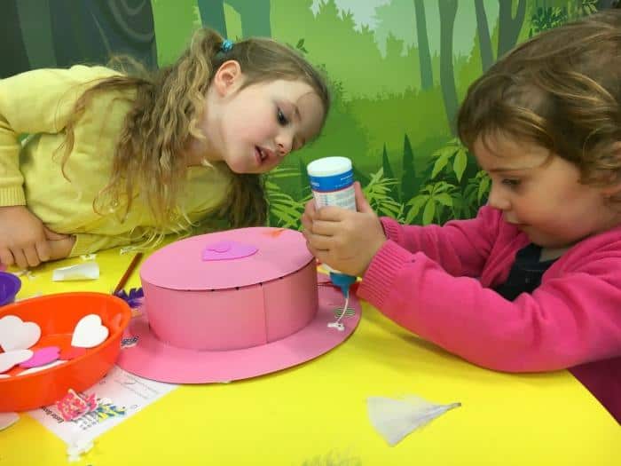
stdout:
[[[47,232],[47,234],[46,234]],[[25,206],[0,207],[0,262],[21,269],[67,257],[62,255],[75,240],[47,230],[41,220]]]

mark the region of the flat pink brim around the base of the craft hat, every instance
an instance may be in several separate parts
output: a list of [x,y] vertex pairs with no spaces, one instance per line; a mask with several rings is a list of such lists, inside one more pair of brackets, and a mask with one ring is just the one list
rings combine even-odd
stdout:
[[302,364],[332,350],[350,336],[360,321],[360,304],[350,296],[355,315],[341,320],[345,329],[327,328],[336,320],[334,310],[344,304],[342,293],[319,285],[318,312],[311,323],[276,342],[232,351],[199,351],[161,342],[145,316],[134,318],[123,338],[138,336],[138,343],[121,350],[117,364],[126,371],[168,383],[223,383],[269,374]]

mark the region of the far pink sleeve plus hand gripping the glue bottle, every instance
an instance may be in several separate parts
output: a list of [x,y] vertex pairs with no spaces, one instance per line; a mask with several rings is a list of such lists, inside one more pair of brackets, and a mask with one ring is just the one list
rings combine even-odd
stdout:
[[476,277],[499,233],[499,211],[483,208],[470,220],[444,226],[399,225],[375,215],[358,183],[358,212],[336,207],[316,210],[307,203],[302,223],[311,253],[320,261],[351,275],[362,275],[387,239],[410,252],[421,251],[452,275]]

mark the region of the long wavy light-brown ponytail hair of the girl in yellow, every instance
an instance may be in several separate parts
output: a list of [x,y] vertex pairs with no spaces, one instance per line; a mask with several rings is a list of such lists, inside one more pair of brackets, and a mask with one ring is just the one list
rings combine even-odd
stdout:
[[[131,71],[122,67],[122,75],[98,80],[83,92],[67,123],[63,168],[74,146],[75,125],[91,99],[99,92],[120,91],[127,97],[119,99],[132,102],[116,144],[111,178],[93,203],[96,211],[125,205],[126,215],[139,188],[159,233],[166,228],[177,232],[191,228],[185,212],[177,206],[186,175],[185,146],[190,137],[203,138],[197,123],[205,94],[213,72],[226,60],[240,63],[245,76],[243,87],[277,79],[308,83],[323,103],[323,127],[330,107],[326,81],[297,51],[259,37],[235,43],[225,52],[221,50],[222,44],[222,36],[201,28],[172,66],[149,73],[131,59],[117,60],[117,65],[129,63]],[[262,178],[254,174],[231,174],[231,192],[221,206],[220,216],[232,227],[263,225],[267,201]],[[185,217],[187,225],[179,224],[179,214]]]

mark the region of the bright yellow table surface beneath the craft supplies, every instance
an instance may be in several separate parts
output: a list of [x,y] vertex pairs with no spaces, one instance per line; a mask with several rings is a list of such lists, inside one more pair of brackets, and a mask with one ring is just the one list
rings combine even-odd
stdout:
[[[101,277],[22,276],[20,298],[110,292],[132,255],[99,253]],[[135,272],[126,288],[140,285]],[[414,394],[462,406],[388,446],[369,396]],[[66,444],[28,415],[0,431],[0,466],[67,464]],[[228,384],[187,385],[98,437],[77,465],[621,465],[621,428],[567,371],[508,375],[473,366],[363,304],[353,336],[297,367]]]

